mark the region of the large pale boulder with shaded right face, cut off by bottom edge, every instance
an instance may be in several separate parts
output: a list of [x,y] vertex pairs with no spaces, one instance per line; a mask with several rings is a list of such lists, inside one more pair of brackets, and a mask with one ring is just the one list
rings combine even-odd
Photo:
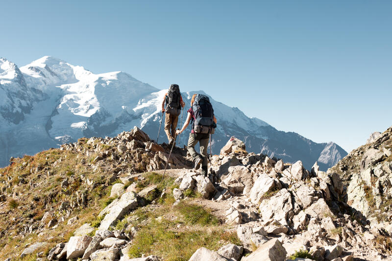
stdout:
[[282,243],[274,238],[259,246],[256,251],[241,261],[284,261],[286,255],[287,252]]

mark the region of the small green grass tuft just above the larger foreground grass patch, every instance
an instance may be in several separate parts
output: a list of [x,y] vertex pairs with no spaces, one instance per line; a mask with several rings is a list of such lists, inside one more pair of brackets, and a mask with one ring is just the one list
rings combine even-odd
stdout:
[[218,218],[211,214],[209,210],[205,210],[202,206],[181,201],[175,206],[175,209],[184,216],[185,222],[189,225],[219,225]]

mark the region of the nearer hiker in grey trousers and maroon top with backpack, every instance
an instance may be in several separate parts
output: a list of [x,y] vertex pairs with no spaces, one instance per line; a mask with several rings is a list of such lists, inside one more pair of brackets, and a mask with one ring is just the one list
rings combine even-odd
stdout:
[[[207,96],[205,95],[193,95],[192,96],[192,100],[191,100],[191,108],[188,110],[188,116],[187,119],[185,120],[184,126],[182,127],[181,130],[177,130],[176,135],[182,133],[189,125],[189,123],[192,120],[192,130],[191,133],[189,134],[189,140],[188,140],[188,152],[189,154],[191,154],[193,160],[195,161],[195,169],[198,169],[201,165],[201,174],[204,175],[205,177],[208,176],[208,158],[207,158],[207,148],[208,148],[208,142],[210,141],[210,133],[211,133],[211,129],[216,127],[216,123],[217,123],[217,119],[215,118],[214,115],[214,110],[212,109],[211,103],[209,102],[208,99],[208,103],[211,106],[211,114],[210,118],[213,118],[213,123],[211,124],[211,126],[213,127],[207,127],[207,129],[209,128],[210,131],[200,131],[199,129],[199,125],[195,126],[195,122],[196,122],[196,118],[199,118],[198,112],[194,112],[194,103],[195,103],[195,99],[199,99],[199,98],[204,98],[206,97],[208,99]],[[202,106],[203,108],[205,106]],[[197,115],[195,115],[197,114]],[[207,112],[204,112],[204,115],[208,115]],[[201,122],[201,121],[200,121]],[[200,123],[199,122],[199,123]],[[202,126],[205,127],[205,126]],[[201,132],[205,132],[205,133],[201,133]],[[200,154],[198,154],[195,150],[195,145],[197,144],[197,142],[199,142],[200,145]]]

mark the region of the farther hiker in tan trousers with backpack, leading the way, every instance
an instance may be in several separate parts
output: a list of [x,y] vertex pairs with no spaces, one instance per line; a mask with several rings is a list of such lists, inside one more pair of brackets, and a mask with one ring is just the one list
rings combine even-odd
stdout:
[[185,102],[182,100],[180,88],[177,84],[172,84],[162,101],[162,113],[166,111],[165,133],[166,136],[168,136],[170,145],[174,142],[175,129],[177,128],[178,116],[181,113],[181,107],[185,107]]

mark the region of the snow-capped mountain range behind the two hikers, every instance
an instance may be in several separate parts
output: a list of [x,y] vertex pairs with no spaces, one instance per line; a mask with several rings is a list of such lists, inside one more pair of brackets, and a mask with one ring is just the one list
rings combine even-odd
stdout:
[[[80,137],[115,136],[135,125],[156,137],[166,92],[122,71],[94,74],[50,56],[20,69],[1,58],[0,166],[7,165],[11,156],[34,154]],[[194,93],[204,92],[182,93],[186,108]],[[286,162],[302,160],[307,168],[318,161],[326,169],[347,154],[333,142],[315,143],[293,132],[278,131],[210,98],[218,119],[214,153],[236,136],[245,141],[248,151]],[[179,145],[188,140],[184,136]],[[162,126],[159,141],[166,140]]]

